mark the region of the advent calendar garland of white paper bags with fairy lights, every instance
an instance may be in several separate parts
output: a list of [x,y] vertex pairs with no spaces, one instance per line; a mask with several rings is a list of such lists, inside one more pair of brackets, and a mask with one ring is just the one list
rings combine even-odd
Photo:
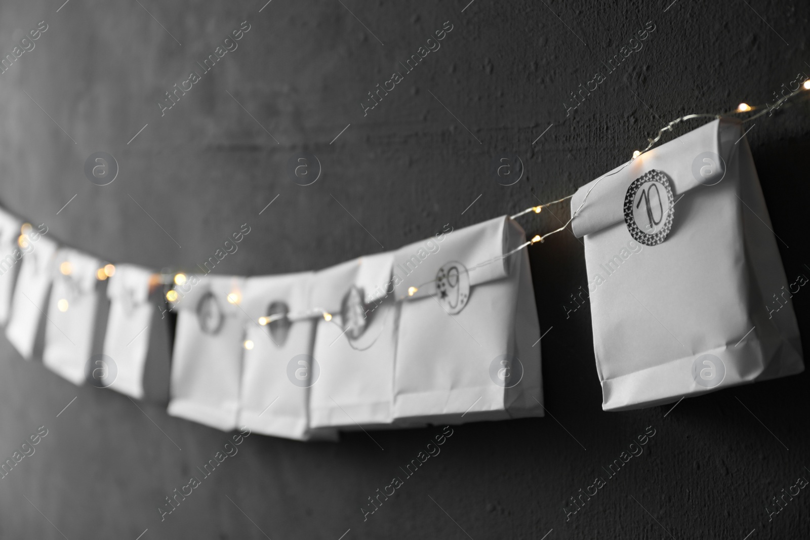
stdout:
[[[735,114],[759,110],[744,121],[753,120],[803,89],[810,81],[774,105],[740,104]],[[764,317],[757,307],[787,280],[741,123],[727,116],[669,122],[627,163],[568,197],[318,272],[243,278],[114,266],[58,248],[47,227],[0,209],[0,246],[9,253],[0,323],[30,358],[47,313],[45,365],[75,384],[144,398],[147,357],[163,355],[168,366],[156,291],[174,284],[165,293],[178,313],[168,412],[223,430],[334,440],[338,430],[543,416],[524,248],[570,224],[590,240],[604,409],[790,375],[804,369],[795,315],[787,306]],[[698,117],[714,121],[654,148],[665,131]],[[684,217],[675,210],[682,198]],[[569,199],[567,223],[526,240],[515,219]],[[739,253],[768,257],[741,266]],[[746,275],[753,279],[740,297]],[[102,297],[96,283],[108,279]],[[700,294],[706,287],[709,300]],[[92,355],[104,301],[103,354]]]

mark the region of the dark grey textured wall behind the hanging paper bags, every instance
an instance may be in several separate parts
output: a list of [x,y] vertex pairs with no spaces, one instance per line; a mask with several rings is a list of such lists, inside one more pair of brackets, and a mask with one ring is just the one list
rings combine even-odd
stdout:
[[[798,0],[468,1],[3,2],[3,56],[40,21],[48,29],[0,74],[0,202],[112,261],[187,268],[249,223],[218,272],[319,269],[563,197],[674,117],[771,101],[810,74],[810,5]],[[238,49],[161,116],[164,92],[243,21]],[[364,110],[446,21],[441,48]],[[645,28],[642,48],[608,74]],[[596,72],[604,80],[573,108],[570,92]],[[791,279],[810,272],[808,125],[797,104],[748,133]],[[117,159],[110,185],[83,174],[95,151]],[[285,172],[298,151],[322,165],[313,185]],[[501,153],[525,164],[514,185],[490,173]],[[568,218],[552,210],[524,219],[527,232]],[[440,427],[377,432],[382,451],[362,432],[339,444],[249,436],[161,522],[164,497],[228,435],[77,388],[2,338],[0,457],[49,432],[0,480],[0,538],[808,536],[807,490],[771,521],[765,511],[810,478],[808,375],[685,399],[669,414],[603,412],[590,312],[563,308],[586,284],[582,253],[569,232],[530,249],[551,415],[454,427],[367,521],[369,495]],[[807,346],[810,292],[792,301]],[[645,452],[566,521],[569,497],[648,427]]]

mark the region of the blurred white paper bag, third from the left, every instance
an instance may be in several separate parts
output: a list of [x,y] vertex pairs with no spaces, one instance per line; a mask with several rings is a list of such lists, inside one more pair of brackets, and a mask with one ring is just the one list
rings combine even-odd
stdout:
[[96,257],[68,248],[57,251],[51,266],[53,288],[42,361],[75,385],[84,383],[92,355],[98,306],[96,272],[100,266]]

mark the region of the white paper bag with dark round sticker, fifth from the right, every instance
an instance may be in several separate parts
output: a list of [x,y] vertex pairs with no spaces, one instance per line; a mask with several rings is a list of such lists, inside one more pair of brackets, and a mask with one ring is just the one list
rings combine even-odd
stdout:
[[177,329],[168,414],[223,431],[237,427],[245,278],[192,275],[173,306]]

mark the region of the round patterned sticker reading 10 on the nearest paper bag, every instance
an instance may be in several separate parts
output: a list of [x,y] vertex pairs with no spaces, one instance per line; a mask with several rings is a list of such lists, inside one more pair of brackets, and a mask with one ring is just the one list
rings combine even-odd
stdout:
[[674,206],[672,186],[663,172],[653,169],[634,180],[625,195],[625,223],[633,240],[644,245],[666,240]]

